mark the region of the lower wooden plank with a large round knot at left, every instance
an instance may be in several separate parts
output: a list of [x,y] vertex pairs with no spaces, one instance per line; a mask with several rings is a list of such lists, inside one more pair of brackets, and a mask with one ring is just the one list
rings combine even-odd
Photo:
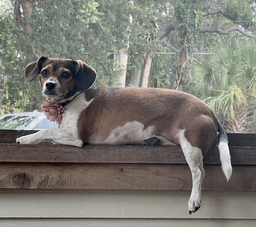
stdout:
[[[202,190],[256,191],[256,166],[206,165]],[[188,165],[2,163],[0,188],[191,190]]]

